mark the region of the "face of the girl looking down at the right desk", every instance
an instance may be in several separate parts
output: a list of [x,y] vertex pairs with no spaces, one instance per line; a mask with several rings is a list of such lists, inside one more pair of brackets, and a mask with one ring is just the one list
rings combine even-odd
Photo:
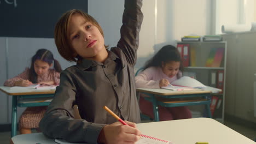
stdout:
[[176,76],[179,71],[179,65],[180,62],[162,62],[162,72],[167,75],[168,77],[172,78],[173,76]]

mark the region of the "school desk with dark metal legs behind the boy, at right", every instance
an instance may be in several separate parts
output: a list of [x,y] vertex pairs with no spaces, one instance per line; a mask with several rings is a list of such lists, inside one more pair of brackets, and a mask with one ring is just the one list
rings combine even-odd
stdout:
[[[205,105],[207,117],[212,117],[210,104],[212,91],[202,91],[201,89],[171,91],[164,88],[136,88],[137,92],[142,92],[149,95],[144,99],[153,104],[154,120],[159,121],[158,105],[164,107],[177,107],[189,105]],[[185,98],[179,100],[179,98]]]

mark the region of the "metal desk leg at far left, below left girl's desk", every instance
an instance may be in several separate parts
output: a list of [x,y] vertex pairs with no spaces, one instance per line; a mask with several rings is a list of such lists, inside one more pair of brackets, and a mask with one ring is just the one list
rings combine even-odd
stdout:
[[11,108],[11,137],[17,133],[17,95],[13,95],[13,104]]

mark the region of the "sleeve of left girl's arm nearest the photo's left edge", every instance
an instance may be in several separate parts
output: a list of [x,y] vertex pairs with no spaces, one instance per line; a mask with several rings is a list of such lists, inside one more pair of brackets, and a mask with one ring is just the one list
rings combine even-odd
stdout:
[[8,79],[4,82],[4,86],[8,86],[8,87],[14,87],[15,86],[15,82],[20,80],[20,79],[24,79],[24,80],[28,80],[28,76],[30,73],[30,69],[26,68],[21,74]]

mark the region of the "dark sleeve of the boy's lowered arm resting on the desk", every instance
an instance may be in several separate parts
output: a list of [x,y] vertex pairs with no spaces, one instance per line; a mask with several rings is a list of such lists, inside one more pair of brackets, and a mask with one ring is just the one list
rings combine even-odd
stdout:
[[106,124],[89,123],[74,119],[73,104],[76,88],[70,74],[61,73],[60,86],[56,87],[53,101],[39,123],[43,134],[68,142],[97,143],[98,135]]

